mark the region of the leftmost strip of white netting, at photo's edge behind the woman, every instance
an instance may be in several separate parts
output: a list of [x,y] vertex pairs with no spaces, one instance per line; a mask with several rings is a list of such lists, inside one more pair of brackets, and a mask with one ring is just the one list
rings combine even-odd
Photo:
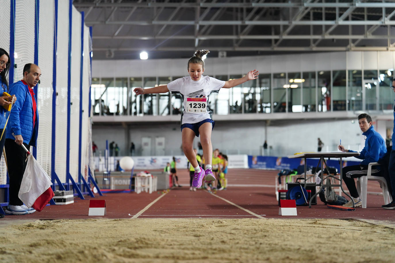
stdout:
[[[6,50],[9,54],[9,24],[10,24],[10,1],[2,0],[0,1],[0,10],[2,10],[2,15],[0,16],[0,24],[4,30],[0,30],[0,47]],[[4,127],[0,127],[3,129]],[[5,134],[3,135],[5,136]],[[1,149],[0,149],[1,150]],[[0,185],[7,184],[7,168],[6,162],[4,161],[4,156],[0,160]]]

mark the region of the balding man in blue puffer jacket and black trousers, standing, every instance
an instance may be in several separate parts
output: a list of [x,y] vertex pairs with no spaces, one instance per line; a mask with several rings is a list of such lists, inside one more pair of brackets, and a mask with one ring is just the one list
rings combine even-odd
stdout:
[[10,215],[26,215],[36,211],[26,207],[18,193],[26,168],[26,152],[21,145],[29,149],[37,142],[38,110],[34,87],[40,76],[38,65],[28,63],[23,68],[23,79],[9,86],[9,93],[18,98],[9,115],[5,142],[9,168],[9,205],[5,212]]

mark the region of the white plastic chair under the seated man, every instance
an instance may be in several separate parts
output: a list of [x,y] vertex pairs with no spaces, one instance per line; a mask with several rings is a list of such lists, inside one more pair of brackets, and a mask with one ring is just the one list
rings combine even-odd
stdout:
[[380,183],[381,190],[383,191],[384,205],[392,202],[392,195],[388,191],[387,181],[382,176],[372,176],[372,166],[380,165],[378,162],[371,162],[368,165],[367,175],[357,178],[357,190],[358,194],[362,199],[362,208],[366,208],[366,197],[367,197],[367,186],[368,181],[378,181]]

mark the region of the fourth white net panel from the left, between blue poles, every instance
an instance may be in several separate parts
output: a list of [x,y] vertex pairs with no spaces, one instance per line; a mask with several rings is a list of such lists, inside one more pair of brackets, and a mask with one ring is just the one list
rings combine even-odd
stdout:
[[[67,89],[69,56],[69,6],[68,1],[58,1],[58,34],[56,57],[56,128],[55,172],[62,183],[66,182],[67,153]],[[74,139],[74,138],[71,138]],[[75,154],[75,153],[71,153]]]

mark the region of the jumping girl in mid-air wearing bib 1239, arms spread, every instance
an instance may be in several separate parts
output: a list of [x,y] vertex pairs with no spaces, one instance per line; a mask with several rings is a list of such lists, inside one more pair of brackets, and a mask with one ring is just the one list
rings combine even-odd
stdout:
[[[196,50],[194,56],[189,59],[187,71],[189,76],[177,78],[167,85],[161,85],[150,89],[135,88],[136,95],[166,93],[168,91],[179,92],[183,98],[184,112],[181,114],[181,137],[182,150],[186,158],[194,168],[192,187],[201,187],[203,179],[208,182],[216,181],[213,175],[211,159],[213,158],[213,145],[211,144],[211,131],[214,128],[212,111],[209,107],[208,96],[211,92],[218,92],[220,88],[232,88],[248,80],[258,78],[259,71],[249,71],[243,78],[233,80],[218,80],[210,76],[203,76],[204,62],[202,57],[209,50]],[[205,169],[198,165],[196,154],[193,150],[195,136],[200,137],[205,159]]]

